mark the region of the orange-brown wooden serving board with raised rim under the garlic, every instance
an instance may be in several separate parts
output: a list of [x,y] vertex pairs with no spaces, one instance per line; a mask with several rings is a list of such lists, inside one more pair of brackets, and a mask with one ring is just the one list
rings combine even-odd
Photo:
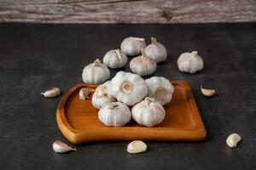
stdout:
[[[96,85],[77,84],[63,96],[57,108],[61,133],[73,144],[103,140],[199,141],[207,132],[201,121],[188,82],[172,82],[175,92],[165,105],[164,122],[156,127],[142,127],[131,121],[125,127],[106,127],[98,120],[98,110],[91,100],[79,99],[80,88]],[[91,95],[90,95],[91,98]]]

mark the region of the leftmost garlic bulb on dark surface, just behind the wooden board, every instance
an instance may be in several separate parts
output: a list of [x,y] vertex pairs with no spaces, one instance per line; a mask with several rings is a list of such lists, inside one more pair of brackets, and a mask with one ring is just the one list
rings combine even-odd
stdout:
[[100,59],[96,59],[90,65],[85,66],[82,74],[84,82],[90,84],[105,82],[109,76],[108,67],[103,65]]

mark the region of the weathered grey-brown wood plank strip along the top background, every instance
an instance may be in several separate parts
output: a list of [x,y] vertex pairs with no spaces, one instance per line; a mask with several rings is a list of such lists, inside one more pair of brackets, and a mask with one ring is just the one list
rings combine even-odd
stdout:
[[255,0],[0,0],[0,21],[204,23],[256,21]]

